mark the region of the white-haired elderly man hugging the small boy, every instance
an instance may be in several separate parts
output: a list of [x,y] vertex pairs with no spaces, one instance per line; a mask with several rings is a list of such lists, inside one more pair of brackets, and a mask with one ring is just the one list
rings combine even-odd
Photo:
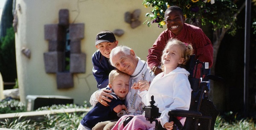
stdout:
[[[126,95],[127,102],[127,115],[140,115],[143,113],[143,102],[138,95],[138,90],[131,89],[133,86],[140,86],[143,88],[146,84],[150,83],[154,76],[150,73],[150,68],[147,63],[136,56],[134,51],[127,46],[117,46],[113,48],[110,54],[111,65],[116,67],[119,71],[129,74],[130,77],[130,89]],[[107,106],[112,96],[108,94],[111,90],[102,89],[97,90],[91,96],[90,103],[92,106],[97,102],[101,102],[102,105]],[[106,125],[106,124],[104,124]],[[97,126],[97,125],[96,125]],[[95,128],[95,127],[94,127]],[[94,129],[93,128],[93,129]],[[97,127],[97,130],[100,129]]]

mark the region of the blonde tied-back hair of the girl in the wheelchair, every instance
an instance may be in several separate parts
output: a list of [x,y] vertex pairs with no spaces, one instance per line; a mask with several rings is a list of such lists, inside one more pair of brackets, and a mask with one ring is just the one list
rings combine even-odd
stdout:
[[[184,62],[182,64],[179,64],[178,67],[181,67],[181,68],[185,68],[185,65],[186,63],[189,61],[190,59],[190,56],[193,54],[193,48],[192,48],[192,45],[191,44],[187,44],[187,43],[184,43],[184,42],[181,42],[175,38],[171,38],[168,40],[167,44],[166,44],[166,47],[164,48],[164,50],[169,46],[173,46],[173,45],[179,45],[180,48],[181,48],[181,58],[184,58]],[[164,51],[163,51],[164,53]],[[163,54],[162,54],[162,57],[163,57]],[[162,69],[163,69],[163,63],[162,63]]]

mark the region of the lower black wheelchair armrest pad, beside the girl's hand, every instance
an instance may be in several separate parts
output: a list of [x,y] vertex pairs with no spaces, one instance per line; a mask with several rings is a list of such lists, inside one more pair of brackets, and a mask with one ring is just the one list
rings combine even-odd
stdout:
[[192,110],[170,110],[168,115],[181,117],[201,117],[202,113]]

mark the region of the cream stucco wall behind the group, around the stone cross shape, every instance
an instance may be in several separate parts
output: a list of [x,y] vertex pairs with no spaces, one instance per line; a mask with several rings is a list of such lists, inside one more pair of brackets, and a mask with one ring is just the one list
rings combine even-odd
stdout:
[[[116,37],[119,45],[134,49],[137,56],[146,60],[150,48],[160,32],[165,28],[140,25],[131,28],[124,21],[126,11],[141,9],[140,20],[151,8],[144,8],[143,0],[16,0],[17,33],[16,60],[20,99],[26,101],[27,95],[61,95],[74,98],[74,103],[82,105],[89,102],[90,95],[97,90],[92,74],[91,56],[96,51],[95,37],[101,30],[122,29],[121,37]],[[19,5],[19,7],[17,6]],[[85,73],[73,75],[74,88],[57,89],[56,74],[44,69],[44,53],[48,52],[48,41],[44,39],[44,25],[58,24],[58,11],[69,9],[70,23],[84,23],[84,39],[81,40],[81,52],[86,54]],[[21,53],[25,47],[31,51],[27,58]]]

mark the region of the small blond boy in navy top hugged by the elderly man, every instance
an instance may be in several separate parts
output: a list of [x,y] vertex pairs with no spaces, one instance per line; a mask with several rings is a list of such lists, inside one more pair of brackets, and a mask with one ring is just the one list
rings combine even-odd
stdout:
[[97,103],[81,120],[77,130],[91,130],[97,123],[119,119],[126,114],[125,96],[129,91],[130,76],[117,69],[109,73],[109,88],[113,96],[108,106]]

